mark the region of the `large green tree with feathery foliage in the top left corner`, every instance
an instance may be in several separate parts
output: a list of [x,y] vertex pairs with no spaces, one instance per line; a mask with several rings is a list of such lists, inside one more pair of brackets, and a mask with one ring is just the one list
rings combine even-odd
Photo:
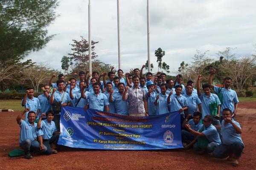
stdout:
[[57,5],[57,0],[1,0],[0,62],[43,48],[53,37],[46,27],[55,20]]

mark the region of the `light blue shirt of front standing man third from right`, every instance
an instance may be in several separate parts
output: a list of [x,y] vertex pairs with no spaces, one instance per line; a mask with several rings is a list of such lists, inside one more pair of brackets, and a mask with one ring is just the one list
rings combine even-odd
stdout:
[[190,96],[188,96],[187,94],[183,95],[184,97],[186,97],[186,99],[188,100],[188,114],[191,114],[192,116],[194,115],[194,112],[198,111],[198,105],[201,104],[201,100],[199,99],[197,94],[194,94],[192,92],[192,94]]

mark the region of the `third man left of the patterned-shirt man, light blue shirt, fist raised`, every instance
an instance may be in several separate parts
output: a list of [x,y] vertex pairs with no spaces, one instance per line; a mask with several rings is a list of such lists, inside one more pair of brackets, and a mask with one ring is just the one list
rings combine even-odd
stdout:
[[89,108],[99,111],[109,112],[108,97],[100,92],[100,84],[98,82],[93,84],[94,93],[84,94],[84,88],[81,91],[81,96],[84,99],[89,99]]

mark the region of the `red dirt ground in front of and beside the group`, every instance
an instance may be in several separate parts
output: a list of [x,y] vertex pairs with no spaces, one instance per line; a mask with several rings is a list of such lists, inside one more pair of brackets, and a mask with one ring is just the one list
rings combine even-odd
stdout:
[[102,170],[102,169],[172,169],[172,170],[256,170],[256,103],[239,103],[236,118],[243,129],[245,144],[239,167],[230,162],[201,156],[193,150],[85,150],[61,147],[58,154],[10,158],[9,151],[19,148],[19,127],[15,118],[19,112],[0,112],[0,169],[3,170]]

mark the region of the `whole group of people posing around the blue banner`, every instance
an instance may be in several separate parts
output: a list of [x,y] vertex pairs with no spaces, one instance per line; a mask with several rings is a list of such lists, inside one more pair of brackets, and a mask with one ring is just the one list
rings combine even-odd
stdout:
[[[200,154],[209,152],[216,158],[228,157],[237,166],[244,144],[241,127],[234,120],[239,100],[230,88],[232,79],[224,78],[224,88],[212,85],[212,76],[216,73],[212,70],[208,83],[202,85],[204,93],[201,93],[201,75],[195,89],[192,80],[183,85],[180,74],[174,80],[166,79],[165,73],[153,77],[148,72],[144,77],[143,68],[145,65],[141,70],[134,69],[134,74],[125,75],[121,69],[116,75],[113,67],[108,74],[80,71],[78,80],[70,78],[68,82],[64,82],[64,75],[59,74],[56,83],[52,83],[56,77],[52,75],[49,84],[41,88],[44,93],[38,98],[33,96],[32,88],[27,88],[22,100],[25,110],[17,117],[19,142],[25,158],[32,158],[30,150],[57,153],[60,112],[53,112],[52,105],[58,102],[62,107],[70,105],[128,116],[154,116],[178,111],[184,148],[193,146]],[[23,114],[25,120],[21,119]]]

